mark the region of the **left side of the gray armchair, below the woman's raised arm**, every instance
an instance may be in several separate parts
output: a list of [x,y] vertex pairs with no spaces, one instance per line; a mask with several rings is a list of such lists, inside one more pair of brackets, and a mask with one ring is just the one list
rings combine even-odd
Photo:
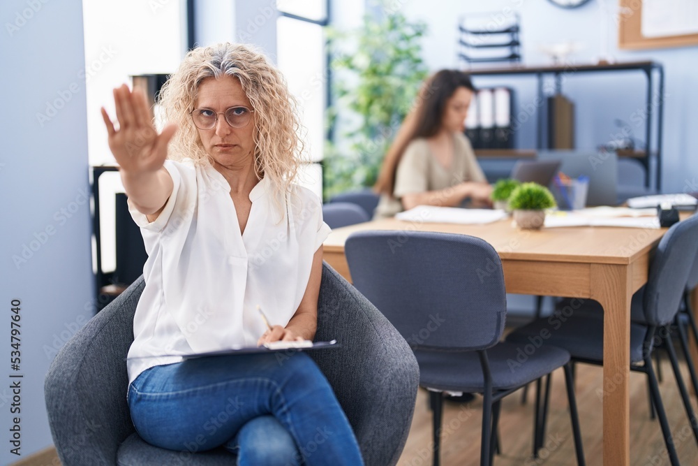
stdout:
[[64,465],[116,465],[134,432],[126,402],[126,354],[143,277],[98,312],[61,348],[44,394],[54,445]]

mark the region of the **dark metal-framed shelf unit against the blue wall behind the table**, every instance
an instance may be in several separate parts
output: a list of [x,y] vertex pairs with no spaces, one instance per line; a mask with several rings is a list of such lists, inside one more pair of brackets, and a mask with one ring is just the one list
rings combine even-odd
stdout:
[[[651,157],[656,158],[656,171],[655,171],[655,188],[660,191],[662,187],[662,123],[664,115],[664,68],[661,64],[656,61],[630,61],[625,63],[612,63],[612,64],[567,64],[567,65],[552,65],[552,66],[523,66],[514,65],[506,66],[500,68],[480,68],[471,69],[466,71],[473,77],[484,77],[484,76],[501,76],[501,75],[534,75],[537,79],[537,96],[539,99],[544,99],[543,93],[543,80],[546,76],[552,75],[556,82],[556,91],[560,92],[562,88],[562,77],[563,75],[568,75],[570,73],[602,73],[602,72],[618,72],[618,71],[639,71],[644,73],[647,79],[647,92],[646,92],[646,121],[645,121],[645,141],[646,149],[644,151],[628,151],[621,150],[618,151],[618,156],[630,157],[637,160],[645,170],[645,187],[651,187],[651,177],[650,177],[650,160]],[[656,108],[652,103],[653,91],[655,86],[658,89],[658,104]],[[653,120],[656,112],[656,125],[657,125],[657,140],[654,141],[652,138]],[[544,112],[536,112],[537,118],[537,130],[536,130],[536,148],[537,150],[543,150],[543,128],[544,128]],[[654,145],[654,146],[653,146]],[[503,150],[503,151],[477,151],[476,154],[479,156],[508,156],[516,157],[516,152],[521,150]],[[525,153],[526,150],[523,150]],[[523,155],[523,156],[530,156]]]

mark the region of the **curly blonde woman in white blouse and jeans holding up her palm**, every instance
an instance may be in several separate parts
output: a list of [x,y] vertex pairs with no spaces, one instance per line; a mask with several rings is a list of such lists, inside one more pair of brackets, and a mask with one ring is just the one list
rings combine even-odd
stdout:
[[239,465],[362,464],[306,354],[176,356],[315,335],[329,227],[292,184],[302,143],[279,71],[245,45],[191,50],[161,92],[159,134],[142,93],[124,85],[114,101],[118,127],[102,115],[149,255],[127,361],[138,434],[223,445]]

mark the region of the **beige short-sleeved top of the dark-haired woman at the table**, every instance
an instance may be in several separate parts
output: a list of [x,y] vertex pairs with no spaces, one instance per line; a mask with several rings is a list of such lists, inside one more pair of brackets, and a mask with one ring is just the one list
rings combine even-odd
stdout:
[[400,198],[405,194],[438,191],[464,181],[485,182],[475,152],[463,133],[454,133],[453,161],[446,168],[431,153],[425,138],[417,138],[407,146],[395,173],[393,196],[382,194],[374,219],[393,217],[403,210]]

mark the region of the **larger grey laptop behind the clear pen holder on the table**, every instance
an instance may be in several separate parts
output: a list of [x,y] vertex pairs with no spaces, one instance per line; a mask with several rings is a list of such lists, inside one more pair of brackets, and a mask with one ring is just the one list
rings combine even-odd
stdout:
[[589,177],[586,205],[618,204],[618,156],[595,150],[542,150],[538,160],[560,161],[560,172],[570,178]]

